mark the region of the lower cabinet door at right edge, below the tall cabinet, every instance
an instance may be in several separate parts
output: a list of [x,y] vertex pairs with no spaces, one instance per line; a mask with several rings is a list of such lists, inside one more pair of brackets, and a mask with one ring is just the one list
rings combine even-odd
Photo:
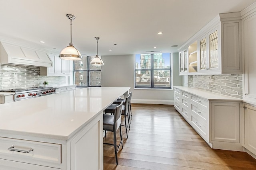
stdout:
[[244,147],[256,155],[256,107],[244,105]]

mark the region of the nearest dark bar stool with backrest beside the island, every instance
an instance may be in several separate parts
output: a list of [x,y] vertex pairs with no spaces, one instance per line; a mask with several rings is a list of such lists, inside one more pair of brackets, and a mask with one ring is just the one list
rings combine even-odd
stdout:
[[[122,128],[121,128],[122,105],[123,105],[123,102],[121,102],[120,105],[117,105],[115,107],[114,115],[103,114],[103,130],[105,130],[105,132],[106,131],[114,132],[114,144],[112,143],[103,143],[103,144],[114,146],[115,154],[116,154],[116,165],[118,165],[117,152],[119,150],[120,144],[122,145],[122,148],[123,148],[123,138],[122,138]],[[120,130],[121,141],[119,145],[116,145],[116,131],[118,130],[118,128]],[[116,147],[118,148],[116,149]]]

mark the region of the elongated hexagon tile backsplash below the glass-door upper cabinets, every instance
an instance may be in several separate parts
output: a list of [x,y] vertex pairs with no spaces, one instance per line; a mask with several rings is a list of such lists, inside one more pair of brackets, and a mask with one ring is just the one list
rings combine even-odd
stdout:
[[188,86],[242,99],[242,74],[188,76]]

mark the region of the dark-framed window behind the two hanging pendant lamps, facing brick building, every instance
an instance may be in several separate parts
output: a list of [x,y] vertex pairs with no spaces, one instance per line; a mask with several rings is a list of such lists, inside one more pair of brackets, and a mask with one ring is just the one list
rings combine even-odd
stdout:
[[74,84],[77,87],[101,86],[101,66],[90,65],[94,57],[87,56],[74,61]]

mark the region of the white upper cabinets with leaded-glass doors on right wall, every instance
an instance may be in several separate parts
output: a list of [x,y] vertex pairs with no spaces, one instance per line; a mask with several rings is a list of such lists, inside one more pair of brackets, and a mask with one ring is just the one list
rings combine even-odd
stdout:
[[179,49],[188,48],[186,74],[242,74],[241,40],[240,12],[219,14]]

